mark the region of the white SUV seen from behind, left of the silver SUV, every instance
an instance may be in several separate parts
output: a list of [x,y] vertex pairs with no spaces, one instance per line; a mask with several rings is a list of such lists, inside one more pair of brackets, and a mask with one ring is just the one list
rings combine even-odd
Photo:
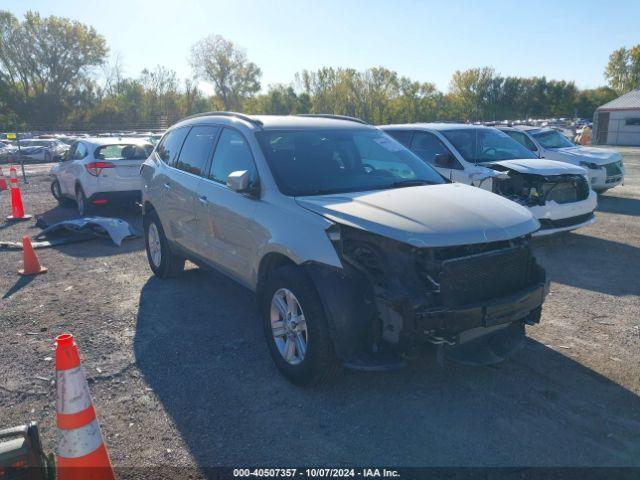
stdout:
[[137,138],[78,140],[51,169],[51,193],[60,203],[75,200],[81,216],[99,205],[139,202],[140,166],[152,150]]

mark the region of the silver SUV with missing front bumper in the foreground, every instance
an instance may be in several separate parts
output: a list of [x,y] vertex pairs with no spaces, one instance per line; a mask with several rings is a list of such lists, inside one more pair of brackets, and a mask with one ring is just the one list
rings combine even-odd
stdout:
[[255,291],[271,356],[296,384],[394,367],[425,344],[496,361],[540,320],[531,213],[450,183],[360,120],[196,115],[141,175],[153,272],[190,259]]

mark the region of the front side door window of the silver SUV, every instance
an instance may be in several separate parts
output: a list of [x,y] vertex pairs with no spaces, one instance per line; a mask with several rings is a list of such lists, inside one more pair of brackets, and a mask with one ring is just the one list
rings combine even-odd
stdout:
[[222,130],[216,153],[211,162],[209,178],[220,183],[227,183],[231,172],[246,170],[255,179],[255,166],[251,149],[239,132],[225,128]]

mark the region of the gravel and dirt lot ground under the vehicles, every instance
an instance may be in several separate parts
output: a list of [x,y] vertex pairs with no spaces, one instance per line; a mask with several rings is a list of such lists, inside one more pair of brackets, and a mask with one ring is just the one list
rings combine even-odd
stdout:
[[[39,250],[49,273],[29,280],[20,252],[0,252],[0,426],[37,420],[55,448],[52,339],[70,331],[118,467],[640,465],[640,149],[621,150],[627,184],[596,223],[535,241],[551,295],[495,368],[421,360],[299,389],[272,365],[249,291],[193,266],[159,281],[142,239]],[[28,170],[28,213],[73,216],[46,167]],[[139,212],[115,213],[140,230]]]

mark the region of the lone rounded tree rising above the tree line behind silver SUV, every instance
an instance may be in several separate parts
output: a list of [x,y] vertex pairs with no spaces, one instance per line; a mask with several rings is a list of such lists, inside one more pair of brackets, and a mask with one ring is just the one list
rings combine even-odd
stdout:
[[190,63],[198,78],[213,84],[225,110],[241,110],[243,102],[260,90],[260,68],[243,49],[220,35],[196,42]]

